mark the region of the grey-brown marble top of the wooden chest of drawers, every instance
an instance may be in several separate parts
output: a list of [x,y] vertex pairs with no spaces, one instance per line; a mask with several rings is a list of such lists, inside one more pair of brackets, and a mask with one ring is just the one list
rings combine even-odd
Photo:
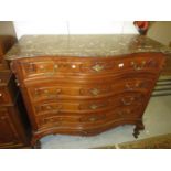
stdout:
[[138,34],[23,35],[6,60],[35,56],[116,56],[138,52],[171,53],[171,49]]

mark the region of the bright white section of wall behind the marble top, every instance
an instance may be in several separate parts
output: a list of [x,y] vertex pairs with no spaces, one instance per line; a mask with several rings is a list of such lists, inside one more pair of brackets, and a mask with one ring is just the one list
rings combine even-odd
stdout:
[[137,33],[132,21],[15,21],[18,38],[24,34]]

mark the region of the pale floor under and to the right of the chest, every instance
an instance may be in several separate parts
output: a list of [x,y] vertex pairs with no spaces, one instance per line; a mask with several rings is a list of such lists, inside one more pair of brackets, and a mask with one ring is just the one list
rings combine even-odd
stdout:
[[[138,139],[171,132],[171,96],[151,97],[143,115],[146,129]],[[94,137],[46,136],[42,138],[45,149],[85,149],[136,140],[133,126],[121,126]]]

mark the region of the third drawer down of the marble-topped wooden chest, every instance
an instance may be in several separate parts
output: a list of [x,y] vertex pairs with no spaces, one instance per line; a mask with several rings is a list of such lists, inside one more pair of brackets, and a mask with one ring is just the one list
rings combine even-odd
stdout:
[[141,105],[146,100],[146,94],[133,92],[124,93],[113,96],[110,98],[94,99],[94,100],[56,100],[33,103],[34,115],[45,114],[88,114],[111,110],[113,108],[120,106]]

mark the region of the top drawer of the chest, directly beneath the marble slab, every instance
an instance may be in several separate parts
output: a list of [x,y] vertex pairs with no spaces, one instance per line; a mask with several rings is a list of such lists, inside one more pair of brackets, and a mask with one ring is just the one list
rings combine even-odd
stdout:
[[[32,57],[14,62],[23,78],[89,75],[122,72],[153,72],[162,65],[162,54],[139,53],[120,57]],[[14,66],[15,70],[17,66]]]

